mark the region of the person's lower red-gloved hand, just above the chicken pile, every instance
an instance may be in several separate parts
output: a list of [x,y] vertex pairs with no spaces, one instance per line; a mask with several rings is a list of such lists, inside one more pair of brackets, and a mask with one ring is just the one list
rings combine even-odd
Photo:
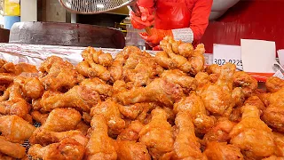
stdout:
[[139,34],[147,44],[149,44],[152,48],[159,45],[160,41],[165,36],[173,36],[171,30],[162,30],[162,29],[156,29],[151,28],[147,32],[143,32]]

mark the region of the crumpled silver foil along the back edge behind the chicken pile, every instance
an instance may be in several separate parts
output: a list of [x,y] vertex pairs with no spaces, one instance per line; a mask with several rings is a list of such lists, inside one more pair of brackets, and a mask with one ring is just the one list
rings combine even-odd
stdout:
[[[25,62],[39,67],[43,60],[55,55],[63,60],[68,60],[73,65],[83,60],[81,52],[85,47],[58,46],[58,45],[38,45],[38,44],[1,44],[0,43],[0,59],[10,61],[12,63]],[[120,49],[111,48],[95,48],[103,52],[109,52],[113,58],[122,51]],[[151,55],[155,55],[154,51],[146,51]],[[212,54],[204,54],[206,64],[212,64]]]

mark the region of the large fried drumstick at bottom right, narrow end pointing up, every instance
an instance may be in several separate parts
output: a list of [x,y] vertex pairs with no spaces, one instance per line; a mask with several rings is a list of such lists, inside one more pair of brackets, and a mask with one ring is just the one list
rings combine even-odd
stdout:
[[230,132],[230,143],[248,158],[263,158],[274,153],[272,130],[260,119],[256,106],[242,107],[241,122]]

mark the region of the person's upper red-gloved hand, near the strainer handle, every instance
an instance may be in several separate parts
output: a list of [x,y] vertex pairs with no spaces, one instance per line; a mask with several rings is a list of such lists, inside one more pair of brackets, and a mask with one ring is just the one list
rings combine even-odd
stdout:
[[154,12],[140,6],[139,9],[141,17],[138,17],[135,12],[130,12],[130,20],[133,28],[143,29],[154,25]]

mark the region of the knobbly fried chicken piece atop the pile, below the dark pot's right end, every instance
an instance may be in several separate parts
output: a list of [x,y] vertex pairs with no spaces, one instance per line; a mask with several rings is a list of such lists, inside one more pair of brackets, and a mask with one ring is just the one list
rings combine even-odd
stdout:
[[110,79],[110,72],[106,67],[112,64],[113,58],[109,53],[97,52],[94,48],[88,47],[82,52],[85,61],[77,65],[78,72],[85,77],[99,77],[104,81]]

